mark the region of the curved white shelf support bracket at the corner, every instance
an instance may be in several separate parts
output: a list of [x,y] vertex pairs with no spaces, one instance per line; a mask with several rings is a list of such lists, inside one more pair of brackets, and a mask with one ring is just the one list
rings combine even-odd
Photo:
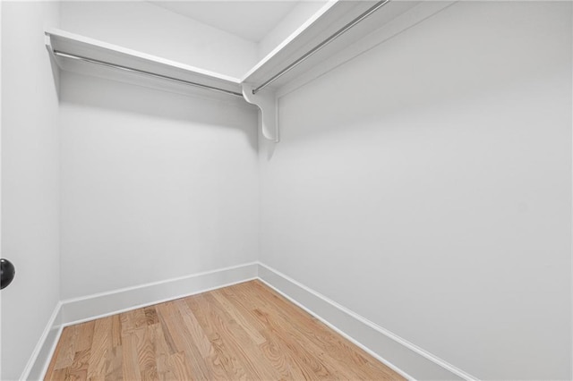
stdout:
[[243,84],[243,97],[261,110],[262,136],[278,143],[278,99],[274,91],[264,89],[252,94],[254,88]]

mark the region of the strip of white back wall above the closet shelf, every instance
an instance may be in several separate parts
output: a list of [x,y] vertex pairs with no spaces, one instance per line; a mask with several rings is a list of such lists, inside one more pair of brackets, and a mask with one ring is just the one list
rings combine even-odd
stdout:
[[257,44],[145,1],[64,1],[62,29],[241,78]]

